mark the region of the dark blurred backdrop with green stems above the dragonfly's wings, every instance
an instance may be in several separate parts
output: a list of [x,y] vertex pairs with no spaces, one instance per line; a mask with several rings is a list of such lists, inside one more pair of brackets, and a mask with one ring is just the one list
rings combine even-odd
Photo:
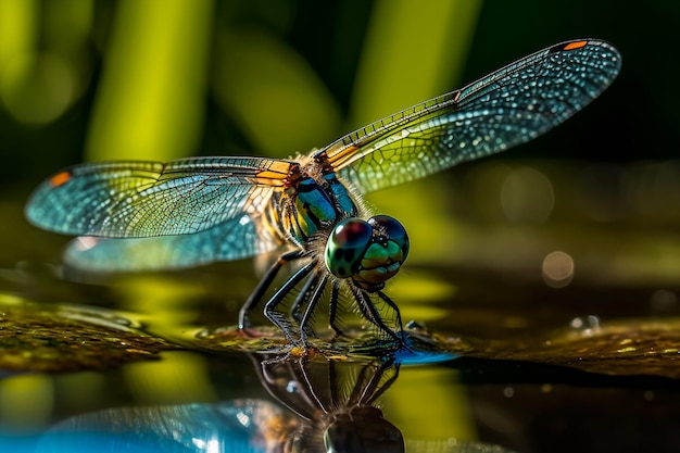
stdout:
[[615,43],[621,76],[518,152],[675,158],[679,23],[660,0],[0,0],[0,184],[25,196],[84,160],[306,153],[578,37]]

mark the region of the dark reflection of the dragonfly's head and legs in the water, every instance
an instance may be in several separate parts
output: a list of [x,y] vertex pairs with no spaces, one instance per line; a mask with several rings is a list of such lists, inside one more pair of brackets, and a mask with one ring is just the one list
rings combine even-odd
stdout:
[[401,431],[375,406],[399,376],[393,358],[357,364],[269,357],[261,365],[263,386],[302,420],[284,451],[404,451]]

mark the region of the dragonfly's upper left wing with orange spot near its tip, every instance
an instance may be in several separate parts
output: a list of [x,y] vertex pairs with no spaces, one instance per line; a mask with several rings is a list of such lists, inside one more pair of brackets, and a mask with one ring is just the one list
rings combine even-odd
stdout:
[[41,228],[70,235],[192,234],[261,212],[297,165],[260,158],[81,164],[42,183],[26,216]]

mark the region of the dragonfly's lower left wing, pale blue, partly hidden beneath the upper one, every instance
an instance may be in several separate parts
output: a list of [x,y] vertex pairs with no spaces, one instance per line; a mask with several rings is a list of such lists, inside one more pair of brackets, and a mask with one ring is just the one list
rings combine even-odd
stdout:
[[243,214],[193,235],[109,239],[83,236],[64,251],[67,267],[96,273],[158,270],[239,260],[276,249],[280,241]]

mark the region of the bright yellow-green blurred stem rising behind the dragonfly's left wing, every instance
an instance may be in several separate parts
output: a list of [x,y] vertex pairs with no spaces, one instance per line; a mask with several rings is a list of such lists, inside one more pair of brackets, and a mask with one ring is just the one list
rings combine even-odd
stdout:
[[196,151],[211,0],[124,0],[105,49],[88,160],[169,160]]

